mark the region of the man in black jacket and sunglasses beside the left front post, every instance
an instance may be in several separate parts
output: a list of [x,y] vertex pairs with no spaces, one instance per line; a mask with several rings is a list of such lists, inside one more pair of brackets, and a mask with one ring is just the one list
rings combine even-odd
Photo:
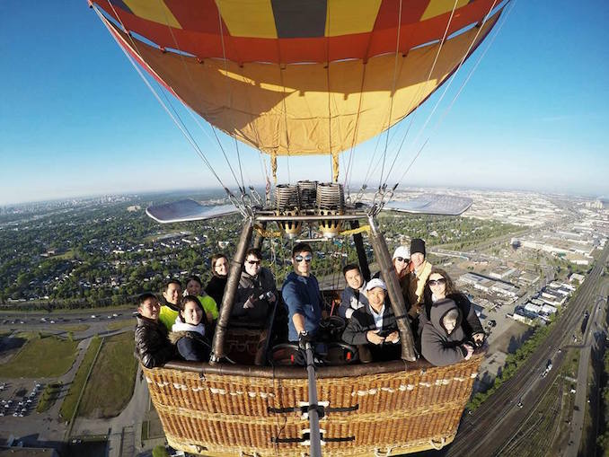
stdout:
[[243,271],[234,300],[231,317],[253,324],[262,324],[269,313],[271,303],[277,299],[275,277],[269,268],[260,265],[262,254],[250,249],[245,254]]

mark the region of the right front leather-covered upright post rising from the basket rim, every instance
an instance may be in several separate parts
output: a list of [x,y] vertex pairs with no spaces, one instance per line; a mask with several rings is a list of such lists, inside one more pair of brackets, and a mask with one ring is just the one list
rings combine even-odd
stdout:
[[387,250],[387,243],[384,242],[383,234],[378,232],[372,217],[368,217],[368,224],[370,224],[370,241],[375,250],[376,259],[381,267],[381,273],[383,275],[384,283],[387,286],[387,294],[389,294],[395,321],[398,324],[400,342],[402,343],[402,360],[414,362],[417,360],[417,355],[414,351],[412,331],[410,330],[410,324],[408,322],[408,314],[406,313],[406,306],[404,305],[402,289],[400,288],[398,277],[395,274],[395,268],[393,268],[391,257],[389,257],[389,250]]

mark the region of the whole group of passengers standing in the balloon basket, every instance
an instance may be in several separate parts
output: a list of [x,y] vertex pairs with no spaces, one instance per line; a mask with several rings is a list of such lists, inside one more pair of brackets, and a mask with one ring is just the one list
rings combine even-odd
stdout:
[[[318,335],[322,295],[311,271],[312,259],[311,247],[297,243],[292,250],[294,269],[279,295],[271,271],[261,266],[260,250],[248,250],[234,295],[231,321],[261,324],[277,303],[283,303],[287,339],[301,348],[311,342],[315,352],[323,356],[325,346]],[[140,296],[136,347],[143,365],[163,365],[176,356],[189,361],[209,360],[211,336],[225,292],[228,259],[216,255],[211,267],[213,277],[205,289],[199,277],[190,277],[184,294],[179,281],[169,281],[163,290],[163,303],[151,293]],[[398,247],[393,252],[393,267],[407,312],[398,318],[382,275],[377,273],[366,282],[357,265],[343,268],[347,286],[338,307],[339,316],[346,321],[343,341],[357,347],[363,363],[397,359],[401,353],[397,319],[407,319],[416,347],[429,363],[451,365],[469,359],[485,338],[481,323],[472,303],[455,288],[446,271],[428,262],[425,242],[413,239],[410,249]]]

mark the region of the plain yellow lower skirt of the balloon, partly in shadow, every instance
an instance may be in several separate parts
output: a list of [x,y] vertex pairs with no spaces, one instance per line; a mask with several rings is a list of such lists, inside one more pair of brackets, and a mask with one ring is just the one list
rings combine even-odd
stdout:
[[271,155],[338,154],[416,109],[498,17],[480,33],[474,27],[447,40],[430,76],[438,43],[399,55],[397,62],[392,54],[366,64],[348,60],[283,68],[215,59],[199,63],[143,43],[134,50],[184,103],[244,143]]

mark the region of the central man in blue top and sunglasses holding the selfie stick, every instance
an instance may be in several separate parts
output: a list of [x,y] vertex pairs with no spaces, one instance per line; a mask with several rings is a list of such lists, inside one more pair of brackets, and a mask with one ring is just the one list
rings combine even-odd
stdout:
[[287,338],[304,344],[314,340],[322,320],[322,298],[317,278],[311,273],[313,250],[301,242],[292,250],[294,271],[281,288],[287,308]]

